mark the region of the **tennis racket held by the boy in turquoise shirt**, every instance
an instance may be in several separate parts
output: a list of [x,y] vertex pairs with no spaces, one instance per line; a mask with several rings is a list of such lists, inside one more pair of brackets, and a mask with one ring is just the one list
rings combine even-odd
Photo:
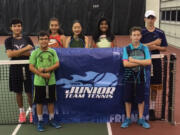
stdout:
[[[133,49],[128,51],[129,57],[132,57],[133,59],[137,60],[144,60],[145,59],[145,53],[143,49]],[[144,67],[143,66],[136,66],[130,68],[132,72],[132,76],[134,78],[134,96],[136,96],[136,85],[137,81],[140,83],[142,79],[144,79]]]

